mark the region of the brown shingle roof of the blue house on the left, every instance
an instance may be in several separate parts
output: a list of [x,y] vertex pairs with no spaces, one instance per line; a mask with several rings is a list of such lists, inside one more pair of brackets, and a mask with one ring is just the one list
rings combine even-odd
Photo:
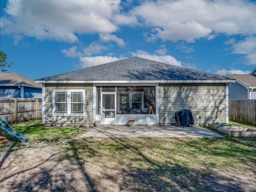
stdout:
[[42,84],[14,72],[0,72],[0,86],[26,86],[42,88]]

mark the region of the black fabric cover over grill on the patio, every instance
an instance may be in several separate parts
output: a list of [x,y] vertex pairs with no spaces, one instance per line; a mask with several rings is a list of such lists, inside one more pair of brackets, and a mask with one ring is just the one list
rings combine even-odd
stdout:
[[183,109],[175,112],[176,125],[179,127],[194,125],[192,113],[188,109]]

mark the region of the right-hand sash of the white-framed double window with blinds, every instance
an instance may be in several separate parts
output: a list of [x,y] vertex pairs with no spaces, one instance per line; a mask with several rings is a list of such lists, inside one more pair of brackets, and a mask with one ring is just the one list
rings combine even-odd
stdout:
[[83,113],[82,92],[71,92],[71,113]]

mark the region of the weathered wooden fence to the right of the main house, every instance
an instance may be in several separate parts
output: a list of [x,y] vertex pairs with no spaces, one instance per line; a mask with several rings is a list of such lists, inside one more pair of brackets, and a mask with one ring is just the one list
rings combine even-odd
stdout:
[[230,99],[229,118],[256,124],[256,99]]

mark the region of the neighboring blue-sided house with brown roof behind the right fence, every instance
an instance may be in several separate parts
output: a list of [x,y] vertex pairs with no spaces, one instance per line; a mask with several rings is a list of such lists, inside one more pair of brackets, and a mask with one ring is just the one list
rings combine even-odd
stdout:
[[227,76],[236,80],[228,86],[229,99],[256,99],[256,76],[252,74]]

